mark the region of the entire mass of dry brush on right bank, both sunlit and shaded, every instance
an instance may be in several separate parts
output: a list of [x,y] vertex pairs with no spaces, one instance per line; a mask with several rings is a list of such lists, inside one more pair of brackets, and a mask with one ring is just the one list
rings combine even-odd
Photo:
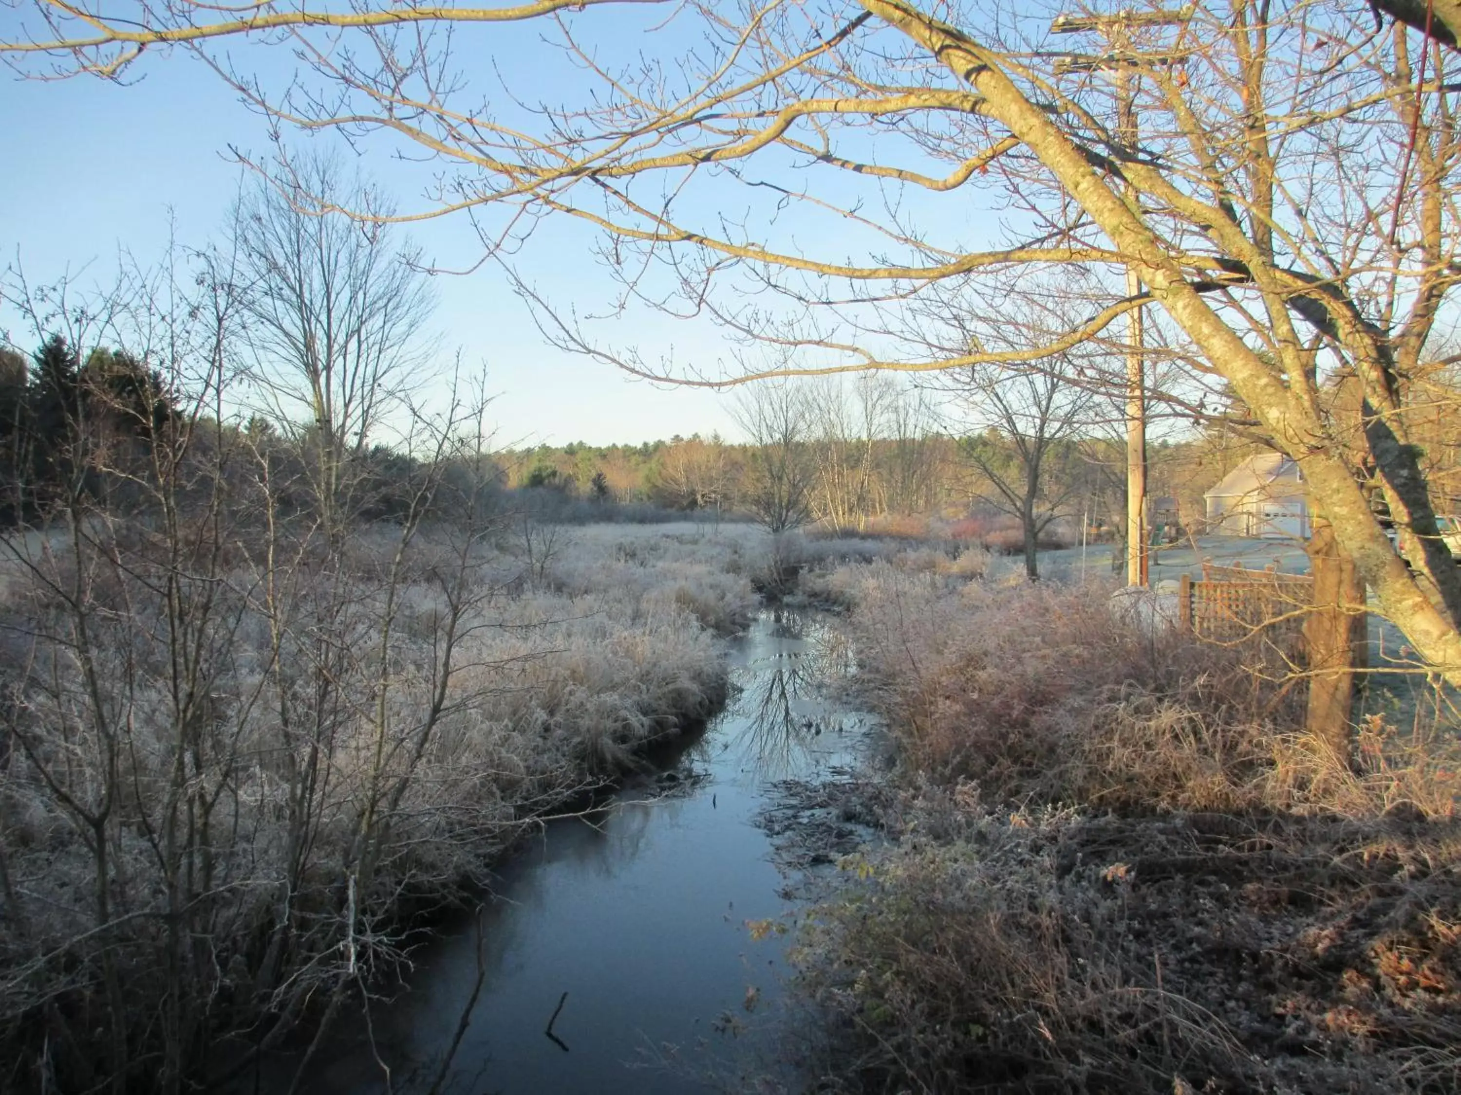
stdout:
[[830,1091],[1458,1089],[1454,727],[1344,765],[1107,590],[842,581],[906,790],[801,952]]

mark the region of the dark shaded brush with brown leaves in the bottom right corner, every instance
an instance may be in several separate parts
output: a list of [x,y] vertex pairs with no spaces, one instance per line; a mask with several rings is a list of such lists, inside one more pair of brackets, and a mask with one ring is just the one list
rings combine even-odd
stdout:
[[804,937],[830,1091],[1448,1092],[1451,822],[904,803]]

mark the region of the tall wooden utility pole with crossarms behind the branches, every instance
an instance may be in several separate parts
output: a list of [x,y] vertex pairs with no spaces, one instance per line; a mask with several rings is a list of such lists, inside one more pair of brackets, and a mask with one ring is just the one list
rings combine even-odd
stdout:
[[[1096,32],[1106,39],[1100,55],[1072,55],[1061,61],[1062,72],[1112,72],[1116,85],[1116,139],[1135,153],[1137,86],[1140,64],[1172,63],[1170,55],[1138,54],[1131,45],[1135,26],[1175,26],[1192,18],[1192,7],[1176,12],[1132,12],[1124,9],[1107,16],[1061,15],[1050,23],[1050,34]],[[1137,204],[1135,188],[1128,182],[1126,196]],[[1141,276],[1126,266],[1126,296],[1141,295]],[[1141,305],[1126,312],[1126,584],[1148,584],[1147,552],[1147,377],[1143,343]]]

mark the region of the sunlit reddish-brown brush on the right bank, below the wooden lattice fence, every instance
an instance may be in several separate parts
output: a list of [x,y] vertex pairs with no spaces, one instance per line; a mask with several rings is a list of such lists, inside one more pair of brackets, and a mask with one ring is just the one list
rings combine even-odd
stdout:
[[1454,812],[1449,727],[1370,718],[1346,768],[1296,730],[1303,683],[1243,648],[1151,635],[1103,587],[844,568],[863,698],[904,765],[995,802],[1099,809]]

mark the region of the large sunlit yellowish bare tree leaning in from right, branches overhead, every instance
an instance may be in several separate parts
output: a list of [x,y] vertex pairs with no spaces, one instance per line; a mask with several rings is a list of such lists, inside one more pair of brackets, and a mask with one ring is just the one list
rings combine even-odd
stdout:
[[[168,53],[149,47],[200,54],[281,128],[428,150],[456,175],[412,212],[470,209],[489,254],[507,261],[539,216],[577,220],[602,242],[621,301],[774,342],[796,353],[795,372],[1046,361],[1150,308],[1189,368],[1230,384],[1300,463],[1382,609],[1461,683],[1461,575],[1400,415],[1400,378],[1426,362],[1461,270],[1451,6],[1232,0],[1195,4],[1178,25],[1145,10],[1124,16],[1119,39],[1074,47],[1100,63],[1071,63],[1058,55],[1071,39],[1048,39],[1052,18],[1110,12],[266,0],[215,15],[142,0],[111,18],[31,0],[0,53],[37,76],[104,77]],[[485,101],[487,58],[520,44],[497,25],[538,19],[561,51],[543,54],[533,88]],[[281,86],[238,74],[224,58],[243,35],[291,41],[308,73]],[[1140,79],[1113,79],[1122,72]],[[519,107],[546,88],[562,91]],[[998,212],[998,229],[970,220],[980,209]],[[941,355],[903,337],[904,308],[925,292],[1069,264],[1099,272],[1106,296],[1042,346]],[[560,342],[672,371],[519,288]],[[1340,366],[1363,385],[1349,418],[1318,397]],[[1414,574],[1346,457],[1356,438],[1423,546]]]

